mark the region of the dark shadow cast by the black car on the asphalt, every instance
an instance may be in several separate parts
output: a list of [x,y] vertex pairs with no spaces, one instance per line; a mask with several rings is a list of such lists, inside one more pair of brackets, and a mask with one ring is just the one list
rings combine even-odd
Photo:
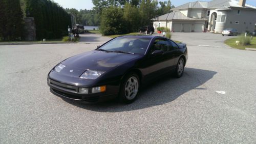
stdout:
[[131,104],[122,104],[114,100],[97,104],[80,103],[65,98],[63,100],[80,108],[98,112],[138,110],[170,103],[190,90],[207,90],[203,84],[215,74],[217,74],[215,71],[185,68],[181,78],[168,76],[148,84],[141,89],[137,100]]

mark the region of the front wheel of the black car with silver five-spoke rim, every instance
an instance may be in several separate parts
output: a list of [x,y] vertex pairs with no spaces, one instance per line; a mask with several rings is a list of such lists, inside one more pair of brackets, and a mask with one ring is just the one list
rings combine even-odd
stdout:
[[121,82],[119,101],[127,104],[134,102],[137,98],[139,89],[139,76],[136,73],[127,74]]

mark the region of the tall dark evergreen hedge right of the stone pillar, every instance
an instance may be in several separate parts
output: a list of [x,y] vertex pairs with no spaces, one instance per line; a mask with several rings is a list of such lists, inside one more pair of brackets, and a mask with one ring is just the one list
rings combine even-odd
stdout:
[[71,16],[50,0],[26,0],[26,14],[35,19],[38,40],[61,38],[71,26]]

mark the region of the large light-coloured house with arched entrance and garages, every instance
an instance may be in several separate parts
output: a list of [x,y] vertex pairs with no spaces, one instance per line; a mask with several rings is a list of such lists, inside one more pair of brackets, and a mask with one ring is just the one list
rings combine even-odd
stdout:
[[254,31],[256,7],[246,0],[196,1],[171,9],[170,13],[153,18],[155,28],[164,26],[172,32],[215,32],[236,28],[239,33]]

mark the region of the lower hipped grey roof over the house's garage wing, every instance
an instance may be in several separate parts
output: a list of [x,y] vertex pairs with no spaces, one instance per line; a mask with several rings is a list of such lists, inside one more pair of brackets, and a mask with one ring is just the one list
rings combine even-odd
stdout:
[[151,20],[204,20],[205,21],[207,19],[186,17],[183,13],[174,11],[174,12],[161,15],[158,18],[153,18]]

